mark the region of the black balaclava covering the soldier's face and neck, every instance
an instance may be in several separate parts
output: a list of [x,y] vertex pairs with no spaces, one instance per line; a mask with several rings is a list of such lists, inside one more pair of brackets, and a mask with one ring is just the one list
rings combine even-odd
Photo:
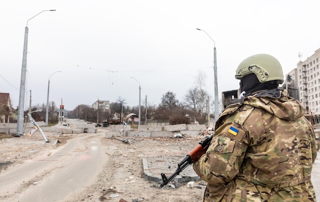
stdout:
[[259,82],[255,73],[250,73],[241,78],[240,91],[245,91],[245,96],[251,95],[258,90],[278,88],[279,81]]

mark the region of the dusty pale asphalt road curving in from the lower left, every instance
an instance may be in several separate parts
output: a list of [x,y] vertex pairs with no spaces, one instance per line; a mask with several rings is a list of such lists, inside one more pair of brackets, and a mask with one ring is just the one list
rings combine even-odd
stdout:
[[37,159],[7,170],[1,174],[0,195],[20,192],[6,201],[59,201],[85,187],[95,180],[108,158],[101,151],[100,136],[70,139]]

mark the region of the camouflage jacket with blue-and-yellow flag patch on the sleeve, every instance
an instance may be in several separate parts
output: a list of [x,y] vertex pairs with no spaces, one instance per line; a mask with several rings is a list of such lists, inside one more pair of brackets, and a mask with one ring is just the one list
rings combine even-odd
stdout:
[[287,91],[265,90],[229,105],[193,169],[204,201],[315,201],[315,135]]

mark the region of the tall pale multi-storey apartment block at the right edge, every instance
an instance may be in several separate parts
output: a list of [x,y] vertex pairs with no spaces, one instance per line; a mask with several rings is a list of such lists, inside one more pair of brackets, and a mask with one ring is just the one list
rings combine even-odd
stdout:
[[305,61],[297,64],[300,102],[312,112],[315,123],[320,118],[320,48]]

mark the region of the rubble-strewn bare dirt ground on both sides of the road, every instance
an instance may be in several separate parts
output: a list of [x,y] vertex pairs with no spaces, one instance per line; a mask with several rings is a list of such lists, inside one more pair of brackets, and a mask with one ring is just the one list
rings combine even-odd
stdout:
[[[0,139],[0,174],[2,170],[62,147],[68,139],[85,135],[87,134],[49,134],[47,138],[51,140],[50,143],[45,143],[39,134],[31,138],[27,135],[19,138],[5,136]],[[163,163],[164,168],[168,167],[168,162],[172,162],[169,166],[171,169],[163,171],[168,177],[179,163],[172,159],[182,160],[204,136],[129,138],[130,144],[117,138],[107,139],[101,134],[99,137],[108,157],[106,162],[101,162],[104,169],[97,176],[92,176],[91,184],[73,191],[63,201],[202,201],[205,188],[203,181],[197,181],[193,188],[187,188],[187,183],[159,188],[158,182],[144,179],[142,159],[154,159],[159,165]],[[54,144],[54,140],[58,142]],[[159,160],[159,157],[163,160]],[[161,170],[162,168],[153,174],[160,176]]]

